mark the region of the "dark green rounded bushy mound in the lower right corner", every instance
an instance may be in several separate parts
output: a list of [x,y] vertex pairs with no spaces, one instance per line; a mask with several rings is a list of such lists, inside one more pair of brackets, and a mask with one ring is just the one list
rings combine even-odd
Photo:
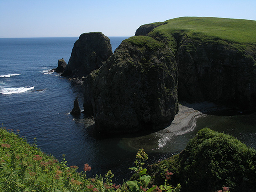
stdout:
[[198,131],[180,154],[149,165],[153,183],[164,182],[160,179],[164,169],[173,173],[170,184],[179,182],[186,192],[225,186],[232,192],[254,192],[256,188],[256,150],[208,128]]

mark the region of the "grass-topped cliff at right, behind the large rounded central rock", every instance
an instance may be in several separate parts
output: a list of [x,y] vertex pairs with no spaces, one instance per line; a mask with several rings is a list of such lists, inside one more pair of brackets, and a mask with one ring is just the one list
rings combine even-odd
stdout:
[[[136,34],[145,33],[145,27]],[[179,100],[256,105],[256,21],[176,18],[145,34],[168,44],[179,69]]]

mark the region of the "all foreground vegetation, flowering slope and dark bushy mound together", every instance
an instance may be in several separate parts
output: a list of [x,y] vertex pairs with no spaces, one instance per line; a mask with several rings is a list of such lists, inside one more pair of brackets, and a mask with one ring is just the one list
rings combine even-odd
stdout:
[[132,179],[117,185],[110,170],[87,178],[88,164],[78,173],[77,166],[67,166],[64,156],[59,162],[36,142],[29,145],[0,128],[0,192],[249,192],[256,187],[256,150],[207,128],[179,155],[144,168],[146,160],[147,154],[139,150],[135,167],[130,168],[135,171]]

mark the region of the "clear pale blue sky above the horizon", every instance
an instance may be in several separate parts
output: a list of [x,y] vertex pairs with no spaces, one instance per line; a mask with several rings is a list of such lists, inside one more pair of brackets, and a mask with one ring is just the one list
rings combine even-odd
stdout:
[[256,0],[0,0],[0,38],[133,36],[140,25],[182,16],[256,20]]

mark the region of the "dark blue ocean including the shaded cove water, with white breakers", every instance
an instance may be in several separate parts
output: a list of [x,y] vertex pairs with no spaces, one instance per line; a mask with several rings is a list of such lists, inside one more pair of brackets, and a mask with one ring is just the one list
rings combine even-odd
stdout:
[[[128,37],[109,37],[112,50]],[[194,128],[181,135],[156,132],[144,135],[109,137],[94,131],[84,115],[74,118],[69,112],[76,97],[83,106],[81,85],[56,72],[58,59],[66,62],[78,37],[0,39],[0,123],[19,133],[43,152],[79,171],[88,163],[88,176],[104,175],[109,169],[117,183],[128,179],[136,152],[144,148],[147,163],[155,163],[181,152],[201,128],[229,133],[256,148],[256,114],[207,115],[197,119]],[[17,131],[18,130],[18,131]]]

